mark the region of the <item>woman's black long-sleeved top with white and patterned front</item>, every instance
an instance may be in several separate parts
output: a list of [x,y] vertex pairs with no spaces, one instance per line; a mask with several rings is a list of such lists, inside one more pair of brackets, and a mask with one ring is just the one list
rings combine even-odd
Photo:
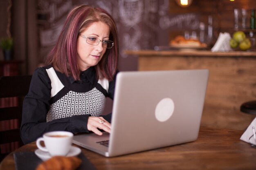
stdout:
[[90,67],[81,72],[80,81],[74,81],[52,66],[37,68],[23,103],[20,129],[23,143],[54,130],[89,132],[89,116],[102,116],[111,122],[111,113],[101,113],[106,97],[114,97],[115,77],[112,82],[97,80],[94,67]]

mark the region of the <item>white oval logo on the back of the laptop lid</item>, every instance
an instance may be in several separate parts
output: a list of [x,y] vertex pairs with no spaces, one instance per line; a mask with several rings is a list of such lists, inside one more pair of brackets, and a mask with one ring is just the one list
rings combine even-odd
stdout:
[[164,98],[155,107],[155,117],[158,121],[166,121],[173,115],[174,103],[171,98]]

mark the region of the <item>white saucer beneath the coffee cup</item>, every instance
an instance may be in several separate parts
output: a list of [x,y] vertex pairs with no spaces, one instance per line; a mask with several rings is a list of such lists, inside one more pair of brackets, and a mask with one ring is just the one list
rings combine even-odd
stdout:
[[[79,155],[81,152],[80,148],[77,148],[75,146],[71,146],[70,151],[67,153],[66,157],[73,157]],[[35,154],[42,159],[43,161],[46,161],[47,159],[51,158],[52,156],[49,154],[49,152],[44,152],[40,149],[37,149],[35,151]]]

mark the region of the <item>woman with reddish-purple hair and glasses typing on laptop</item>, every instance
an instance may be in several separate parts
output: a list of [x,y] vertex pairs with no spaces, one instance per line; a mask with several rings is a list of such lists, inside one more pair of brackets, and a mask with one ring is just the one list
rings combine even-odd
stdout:
[[111,114],[101,113],[106,97],[114,97],[117,59],[113,18],[87,5],[72,9],[46,66],[33,73],[23,104],[24,144],[53,130],[110,132]]

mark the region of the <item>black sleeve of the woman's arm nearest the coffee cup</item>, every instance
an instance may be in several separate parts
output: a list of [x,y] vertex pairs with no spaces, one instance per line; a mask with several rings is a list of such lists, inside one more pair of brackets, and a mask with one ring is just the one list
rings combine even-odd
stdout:
[[35,141],[45,132],[54,130],[73,133],[89,132],[87,121],[90,115],[75,115],[46,122],[46,115],[50,108],[51,89],[51,80],[45,68],[37,68],[23,102],[20,136],[24,144]]

